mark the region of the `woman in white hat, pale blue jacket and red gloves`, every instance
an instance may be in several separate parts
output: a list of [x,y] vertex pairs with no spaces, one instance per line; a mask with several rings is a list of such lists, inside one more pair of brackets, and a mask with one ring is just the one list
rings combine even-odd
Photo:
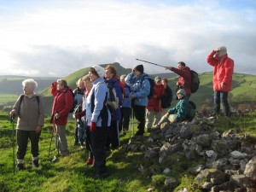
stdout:
[[111,121],[111,114],[107,108],[108,87],[104,83],[105,70],[94,66],[89,69],[90,81],[93,84],[86,97],[86,124],[90,126],[90,143],[95,158],[95,179],[108,176],[106,166],[106,142]]

